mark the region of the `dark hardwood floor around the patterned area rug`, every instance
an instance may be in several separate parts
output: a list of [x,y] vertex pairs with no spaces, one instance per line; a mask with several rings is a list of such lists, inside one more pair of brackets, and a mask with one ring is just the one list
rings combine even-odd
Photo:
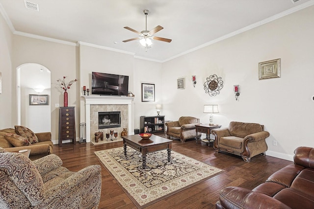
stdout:
[[[101,164],[94,155],[94,151],[121,146],[123,146],[121,141],[97,146],[91,143],[67,143],[63,144],[62,147],[54,145],[53,153],[62,159],[63,166],[71,171],[78,171],[88,165]],[[256,156],[252,158],[250,163],[245,163],[238,156],[215,153],[212,146],[209,148],[204,142],[196,144],[195,140],[186,141],[185,143],[174,140],[172,150],[221,168],[225,172],[148,206],[147,209],[214,209],[220,189],[226,186],[241,186],[253,189],[264,182],[273,172],[292,163],[269,156]],[[103,165],[102,196],[99,208],[136,209],[131,199]]]

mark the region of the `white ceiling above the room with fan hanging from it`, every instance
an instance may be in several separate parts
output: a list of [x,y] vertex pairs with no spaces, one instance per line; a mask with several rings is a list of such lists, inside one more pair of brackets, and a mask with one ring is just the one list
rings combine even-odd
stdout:
[[[261,23],[314,5],[314,0],[28,0],[39,11],[28,9],[24,0],[0,0],[0,12],[15,34],[43,36],[73,43],[122,50],[158,62],[207,46]],[[294,0],[296,1],[296,0]],[[145,29],[164,29],[158,37],[171,43],[153,41],[145,47],[123,40]]]

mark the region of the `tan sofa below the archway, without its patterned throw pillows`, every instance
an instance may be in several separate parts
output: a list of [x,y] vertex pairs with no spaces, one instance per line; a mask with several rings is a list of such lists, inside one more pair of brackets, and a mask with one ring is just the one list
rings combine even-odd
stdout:
[[18,152],[22,149],[30,149],[29,159],[36,160],[46,155],[52,154],[53,143],[51,141],[51,133],[36,133],[38,142],[33,143],[29,146],[17,146],[15,147],[12,143],[5,139],[4,135],[7,133],[15,134],[15,130],[12,128],[0,130],[0,147],[4,148],[8,152]]

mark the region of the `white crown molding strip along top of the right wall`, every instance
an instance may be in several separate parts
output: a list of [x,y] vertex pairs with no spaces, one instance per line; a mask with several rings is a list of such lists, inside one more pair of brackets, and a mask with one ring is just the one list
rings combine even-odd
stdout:
[[189,50],[187,50],[187,51],[184,51],[184,52],[182,52],[182,53],[180,53],[180,54],[177,54],[177,55],[175,55],[175,56],[169,57],[168,59],[162,60],[161,62],[164,63],[164,62],[170,61],[170,60],[172,60],[172,59],[175,59],[175,58],[177,58],[177,57],[181,57],[181,56],[183,56],[183,55],[185,55],[185,54],[188,54],[188,53],[190,53],[190,52],[196,51],[196,50],[198,50],[198,49],[200,49],[200,48],[204,48],[204,47],[206,47],[206,46],[210,46],[210,45],[212,45],[212,44],[215,44],[215,43],[217,43],[217,42],[223,41],[223,40],[225,40],[225,39],[228,39],[228,38],[230,38],[230,37],[233,37],[233,36],[235,36],[235,35],[238,35],[238,34],[240,34],[240,33],[245,32],[245,31],[251,30],[251,29],[256,28],[256,27],[259,27],[259,26],[261,26],[261,25],[263,25],[263,24],[270,23],[270,22],[272,22],[272,21],[274,21],[274,20],[277,20],[277,19],[279,19],[279,18],[282,18],[282,17],[284,17],[284,16],[286,16],[286,15],[292,14],[292,13],[297,12],[297,11],[299,11],[299,10],[305,9],[305,8],[307,8],[307,7],[309,7],[309,6],[312,6],[312,5],[314,5],[314,0],[310,0],[310,1],[306,2],[306,3],[300,4],[300,5],[296,6],[296,7],[293,7],[293,8],[291,8],[291,9],[288,9],[288,10],[286,10],[286,11],[284,11],[284,12],[281,12],[281,13],[279,13],[279,14],[276,14],[276,15],[273,15],[273,16],[271,16],[271,17],[269,17],[269,18],[266,18],[266,19],[264,19],[264,20],[262,20],[262,21],[260,21],[260,22],[253,23],[253,24],[251,24],[251,25],[248,25],[248,26],[246,26],[246,27],[243,27],[243,28],[241,28],[241,29],[238,29],[238,30],[236,30],[236,31],[234,31],[234,32],[232,32],[232,33],[229,33],[229,34],[227,34],[227,35],[221,36],[221,37],[219,37],[219,38],[217,38],[217,39],[214,39],[214,40],[212,40],[212,41],[210,41],[210,42],[208,42],[208,43],[205,43],[205,44],[203,44],[203,45],[194,47],[194,48],[189,49]]

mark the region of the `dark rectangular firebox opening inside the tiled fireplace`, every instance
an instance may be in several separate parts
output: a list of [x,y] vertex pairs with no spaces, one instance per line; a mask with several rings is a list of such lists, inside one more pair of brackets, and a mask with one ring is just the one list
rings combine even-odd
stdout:
[[98,129],[121,127],[120,112],[98,112]]

